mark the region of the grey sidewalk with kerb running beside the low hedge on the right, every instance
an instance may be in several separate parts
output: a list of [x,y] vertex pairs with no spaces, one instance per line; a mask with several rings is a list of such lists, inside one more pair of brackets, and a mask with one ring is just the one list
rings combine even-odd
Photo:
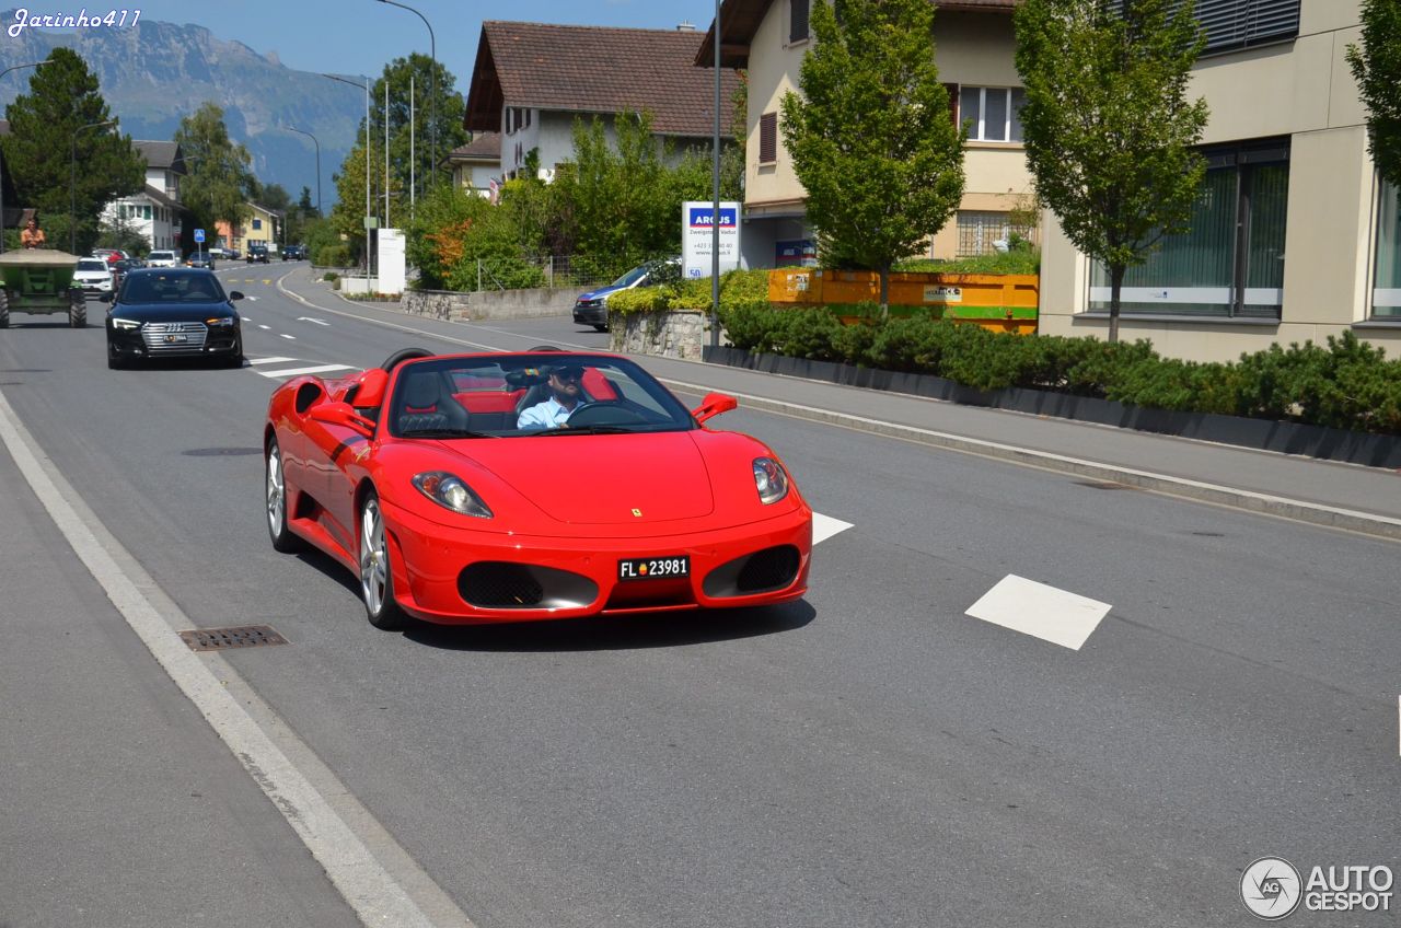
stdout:
[[[284,286],[312,301],[324,299],[297,275]],[[471,329],[469,322],[443,325]],[[672,388],[729,393],[757,409],[1401,540],[1397,471],[703,362],[635,357]]]

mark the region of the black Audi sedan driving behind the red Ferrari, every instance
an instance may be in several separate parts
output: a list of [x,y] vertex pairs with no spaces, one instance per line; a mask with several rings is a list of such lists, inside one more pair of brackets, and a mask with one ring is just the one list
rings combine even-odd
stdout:
[[199,268],[132,271],[106,313],[106,366],[153,357],[209,357],[227,367],[244,363],[244,334],[235,300],[219,278]]

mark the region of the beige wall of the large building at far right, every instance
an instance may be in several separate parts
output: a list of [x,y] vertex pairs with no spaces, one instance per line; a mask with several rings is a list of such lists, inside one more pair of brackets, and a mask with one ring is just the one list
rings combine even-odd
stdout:
[[[1119,336],[1147,338],[1168,356],[1233,360],[1279,342],[1324,342],[1353,328],[1401,357],[1401,320],[1372,320],[1377,179],[1366,109],[1345,52],[1360,41],[1355,0],[1303,0],[1299,36],[1198,62],[1191,94],[1205,97],[1205,144],[1289,139],[1283,306],[1278,320],[1121,314]],[[1090,262],[1045,217],[1041,332],[1100,335],[1087,314]]]

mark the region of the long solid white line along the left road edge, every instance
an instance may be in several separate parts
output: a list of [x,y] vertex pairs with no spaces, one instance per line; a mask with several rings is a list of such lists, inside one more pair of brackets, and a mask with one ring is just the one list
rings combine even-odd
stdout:
[[[102,586],[132,631],[140,636],[185,697],[205,715],[303,844],[325,868],[360,921],[366,925],[433,928],[434,920],[425,914],[419,903],[410,899],[403,886],[381,866],[360,835],[336,813],[328,796],[287,758],[287,754],[234,697],[233,687],[228,685],[237,678],[233,667],[224,660],[203,660],[179,639],[177,628],[195,628],[198,624],[189,621],[174,603],[165,606],[165,615],[153,606],[143,590],[151,590],[153,596],[163,597],[164,594],[157,593],[156,582],[140,569],[130,552],[106,527],[87,512],[87,506],[67,481],[60,474],[52,472],[52,465],[41,464],[41,457],[48,461],[43,450],[24,428],[3,391],[0,391],[0,443],[8,449],[55,526]],[[178,625],[172,627],[167,618],[171,611],[175,613],[172,618],[179,622]],[[212,667],[217,667],[219,673],[216,674]],[[237,683],[244,688],[241,678]],[[247,698],[247,691],[244,695]],[[310,751],[290,732],[284,730],[279,737],[293,739],[294,753]],[[339,788],[345,789],[343,785]],[[338,799],[343,800],[345,796]],[[387,833],[380,840],[392,841]],[[396,845],[395,849],[403,854]],[[427,892],[429,899],[425,904],[436,911],[439,918],[447,924],[471,927],[471,920],[450,901],[446,903],[447,897],[441,896],[441,889],[432,885],[426,875],[416,883],[420,890]],[[427,889],[429,886],[432,889]],[[437,890],[437,894],[433,894],[433,890]]]

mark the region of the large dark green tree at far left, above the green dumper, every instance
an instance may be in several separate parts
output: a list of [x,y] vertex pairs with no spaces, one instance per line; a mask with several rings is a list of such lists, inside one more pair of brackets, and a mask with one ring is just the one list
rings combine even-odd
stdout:
[[[10,135],[0,144],[18,205],[38,207],[53,245],[69,247],[76,231],[74,247],[87,254],[97,241],[102,207],[146,184],[132,137],[92,125],[112,119],[97,77],[76,52],[56,48],[29,77],[29,93],[6,108],[6,118]],[[76,228],[69,224],[70,202]]]

